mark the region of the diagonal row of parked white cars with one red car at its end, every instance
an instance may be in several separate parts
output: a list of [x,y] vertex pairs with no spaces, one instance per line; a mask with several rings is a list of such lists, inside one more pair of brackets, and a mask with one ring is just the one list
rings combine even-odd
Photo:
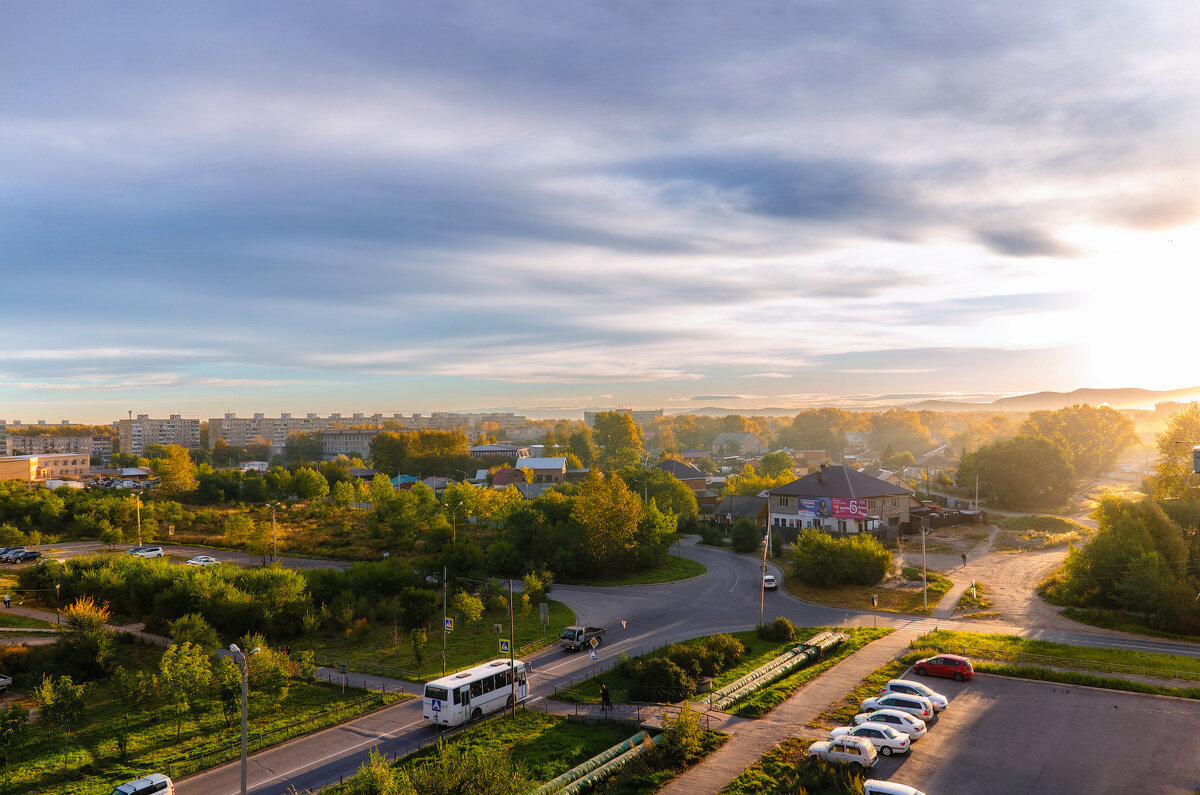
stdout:
[[[958,654],[919,659],[913,670],[922,676],[947,676],[959,682],[974,675],[971,660]],[[929,730],[925,722],[932,721],[949,704],[949,699],[922,682],[890,680],[878,695],[863,701],[863,711],[854,716],[853,725],[838,727],[829,733],[829,740],[814,742],[808,755],[869,770],[881,755],[912,752],[912,743]],[[911,787],[893,782],[869,779],[863,787],[870,795],[920,795]]]

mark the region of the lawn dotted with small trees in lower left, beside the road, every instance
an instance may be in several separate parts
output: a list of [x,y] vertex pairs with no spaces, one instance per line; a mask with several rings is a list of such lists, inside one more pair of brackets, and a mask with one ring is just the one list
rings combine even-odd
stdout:
[[[356,704],[340,713],[329,712],[337,705],[349,705],[356,699],[370,697],[366,703]],[[175,721],[161,710],[145,710],[134,715],[130,722],[130,743],[126,760],[118,754],[118,737],[124,723],[124,715],[113,701],[104,683],[90,685],[86,691],[88,709],[84,724],[77,729],[66,743],[66,764],[64,764],[64,741],[60,733],[52,737],[36,727],[31,727],[29,741],[14,752],[10,759],[8,787],[12,791],[36,791],[40,795],[92,795],[108,791],[116,784],[138,778],[148,770],[170,771],[179,778],[197,770],[214,767],[236,758],[238,741],[241,728],[236,716],[230,725],[226,725],[221,707],[216,704],[205,705],[198,719],[186,717],[180,725],[176,739]],[[251,697],[250,737],[251,751],[275,745],[286,739],[282,734],[270,735],[272,729],[281,729],[305,719],[311,719],[295,729],[292,736],[344,721],[378,706],[386,699],[379,694],[367,694],[356,689],[347,689],[342,695],[340,687],[324,683],[304,683],[294,681],[282,704],[269,704]],[[259,735],[264,741],[259,742]],[[198,753],[212,753],[204,760],[185,763],[185,759]],[[222,753],[223,752],[223,753]]]

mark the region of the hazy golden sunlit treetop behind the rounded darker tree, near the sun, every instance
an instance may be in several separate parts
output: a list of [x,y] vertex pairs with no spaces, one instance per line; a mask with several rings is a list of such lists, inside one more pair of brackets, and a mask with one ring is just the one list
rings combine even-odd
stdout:
[[1058,411],[1036,411],[1018,435],[1044,436],[1067,453],[1078,474],[1109,472],[1124,449],[1138,443],[1133,420],[1109,406],[1086,404]]

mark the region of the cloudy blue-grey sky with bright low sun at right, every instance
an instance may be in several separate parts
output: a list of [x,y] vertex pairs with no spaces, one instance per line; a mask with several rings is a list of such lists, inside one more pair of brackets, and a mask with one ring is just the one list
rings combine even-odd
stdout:
[[0,418],[1200,385],[1200,4],[0,0]]

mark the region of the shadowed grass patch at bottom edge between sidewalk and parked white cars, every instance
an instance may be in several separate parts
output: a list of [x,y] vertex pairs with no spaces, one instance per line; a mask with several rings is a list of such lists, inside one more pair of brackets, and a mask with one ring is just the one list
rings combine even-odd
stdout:
[[721,795],[862,795],[863,773],[848,765],[827,765],[806,759],[811,740],[790,737],[772,748],[762,759],[742,771]]

